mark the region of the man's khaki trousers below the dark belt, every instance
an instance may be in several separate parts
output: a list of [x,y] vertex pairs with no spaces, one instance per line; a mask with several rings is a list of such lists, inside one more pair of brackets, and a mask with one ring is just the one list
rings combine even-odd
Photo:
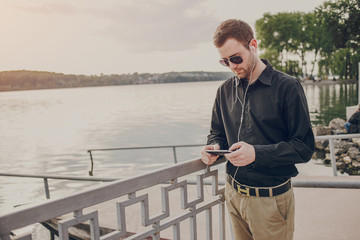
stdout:
[[225,201],[236,240],[293,239],[295,202],[292,188],[275,197],[248,197],[226,182]]

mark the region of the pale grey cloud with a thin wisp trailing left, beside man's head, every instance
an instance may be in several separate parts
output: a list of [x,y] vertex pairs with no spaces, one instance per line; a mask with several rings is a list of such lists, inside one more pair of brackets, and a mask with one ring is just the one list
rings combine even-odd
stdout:
[[[17,8],[37,14],[82,15],[101,25],[91,32],[111,38],[132,52],[180,51],[210,42],[219,23],[205,0],[43,1]],[[76,5],[77,4],[77,5]],[[91,22],[89,21],[89,24]]]

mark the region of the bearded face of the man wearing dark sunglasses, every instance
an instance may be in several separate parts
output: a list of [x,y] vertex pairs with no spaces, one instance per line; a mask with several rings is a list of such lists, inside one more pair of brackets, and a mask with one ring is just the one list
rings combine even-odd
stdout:
[[249,80],[252,66],[254,63],[254,56],[249,49],[246,49],[244,45],[233,38],[226,40],[224,45],[218,48],[220,58],[229,59],[233,56],[241,56],[243,62],[240,64],[229,62],[229,68],[239,78],[246,78]]

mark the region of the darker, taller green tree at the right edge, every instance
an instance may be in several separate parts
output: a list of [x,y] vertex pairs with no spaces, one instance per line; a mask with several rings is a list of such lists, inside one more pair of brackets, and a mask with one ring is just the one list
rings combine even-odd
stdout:
[[[320,69],[329,70],[345,79],[354,79],[358,74],[360,53],[360,1],[339,0],[325,2],[315,9],[321,19],[322,29],[327,30],[328,40],[321,51]],[[324,69],[324,65],[330,66]]]

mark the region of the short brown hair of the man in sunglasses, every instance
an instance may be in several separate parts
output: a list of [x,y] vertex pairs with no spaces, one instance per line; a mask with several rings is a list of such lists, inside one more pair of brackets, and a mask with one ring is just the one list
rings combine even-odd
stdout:
[[215,47],[222,47],[229,38],[233,38],[242,43],[244,47],[249,48],[248,44],[254,38],[254,32],[246,22],[228,19],[223,21],[214,33]]

